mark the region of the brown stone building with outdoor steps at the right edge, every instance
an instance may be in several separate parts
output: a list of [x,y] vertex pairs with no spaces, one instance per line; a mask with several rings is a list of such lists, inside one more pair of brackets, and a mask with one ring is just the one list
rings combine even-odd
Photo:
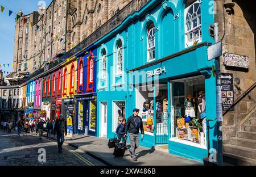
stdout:
[[249,69],[225,66],[221,72],[233,74],[234,111],[223,117],[224,160],[237,165],[256,165],[256,64],[255,1],[216,1],[216,22],[220,27],[222,54],[249,57]]

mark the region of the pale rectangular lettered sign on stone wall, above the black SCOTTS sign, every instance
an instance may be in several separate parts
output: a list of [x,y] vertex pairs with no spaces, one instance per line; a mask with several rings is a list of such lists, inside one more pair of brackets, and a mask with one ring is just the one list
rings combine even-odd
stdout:
[[249,68],[249,57],[240,54],[225,53],[225,66]]

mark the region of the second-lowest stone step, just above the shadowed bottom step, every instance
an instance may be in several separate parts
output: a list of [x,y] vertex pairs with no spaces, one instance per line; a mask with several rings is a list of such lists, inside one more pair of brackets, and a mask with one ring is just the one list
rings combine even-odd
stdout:
[[248,147],[241,147],[236,145],[223,145],[223,151],[225,153],[240,155],[242,157],[256,159],[256,150]]

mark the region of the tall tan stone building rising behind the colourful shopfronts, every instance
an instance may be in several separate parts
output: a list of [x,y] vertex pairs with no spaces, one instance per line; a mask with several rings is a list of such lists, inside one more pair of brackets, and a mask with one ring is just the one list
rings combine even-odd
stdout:
[[31,74],[57,54],[68,52],[130,1],[53,0],[39,12],[23,15],[20,10],[15,25],[13,77]]

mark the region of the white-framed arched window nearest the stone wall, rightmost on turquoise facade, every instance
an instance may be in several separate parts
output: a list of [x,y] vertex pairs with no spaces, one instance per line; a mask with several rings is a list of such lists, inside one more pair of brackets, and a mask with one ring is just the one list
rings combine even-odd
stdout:
[[185,7],[185,47],[201,41],[201,8],[197,0],[188,0]]

